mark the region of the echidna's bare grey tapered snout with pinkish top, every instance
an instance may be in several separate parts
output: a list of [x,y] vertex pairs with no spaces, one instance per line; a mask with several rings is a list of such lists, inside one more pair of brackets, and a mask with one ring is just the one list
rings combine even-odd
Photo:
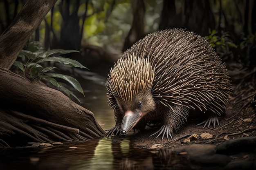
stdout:
[[130,110],[126,111],[121,124],[121,134],[125,135],[127,132],[129,132],[135,126],[139,120],[139,117],[141,117],[139,112],[132,112]]

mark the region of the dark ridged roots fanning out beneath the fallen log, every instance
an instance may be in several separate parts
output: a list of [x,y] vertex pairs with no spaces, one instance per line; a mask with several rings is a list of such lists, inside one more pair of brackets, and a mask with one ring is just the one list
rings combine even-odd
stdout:
[[[97,135],[89,128],[88,132]],[[49,143],[54,141],[85,141],[92,139],[92,136],[82,131],[79,132],[77,128],[55,124],[15,110],[0,110],[0,135],[11,136],[11,134],[19,134],[30,141]],[[4,139],[0,139],[0,146],[10,147],[8,141]]]

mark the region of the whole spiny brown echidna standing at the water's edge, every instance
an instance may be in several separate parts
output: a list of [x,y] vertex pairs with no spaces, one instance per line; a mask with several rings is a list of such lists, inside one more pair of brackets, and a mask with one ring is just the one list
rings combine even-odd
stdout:
[[106,87],[116,119],[107,137],[161,122],[153,135],[172,138],[192,111],[208,115],[204,126],[215,126],[231,94],[220,57],[204,38],[182,29],[139,40],[110,70]]

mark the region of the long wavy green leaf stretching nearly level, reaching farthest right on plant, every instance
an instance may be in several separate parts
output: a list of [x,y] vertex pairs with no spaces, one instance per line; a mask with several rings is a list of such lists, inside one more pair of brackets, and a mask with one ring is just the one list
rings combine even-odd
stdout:
[[70,58],[64,58],[64,57],[47,57],[38,61],[38,63],[40,62],[60,62],[61,64],[67,64],[73,67],[86,68],[85,66],[80,64],[78,61],[72,60]]

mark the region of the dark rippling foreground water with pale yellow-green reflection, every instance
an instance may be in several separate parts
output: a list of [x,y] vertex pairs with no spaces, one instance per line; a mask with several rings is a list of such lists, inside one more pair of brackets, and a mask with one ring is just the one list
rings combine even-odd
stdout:
[[[69,143],[49,148],[8,148],[1,151],[0,170],[162,170],[187,169],[171,150],[150,152],[110,139]],[[72,149],[70,147],[77,147]],[[186,165],[186,166],[185,166]]]

